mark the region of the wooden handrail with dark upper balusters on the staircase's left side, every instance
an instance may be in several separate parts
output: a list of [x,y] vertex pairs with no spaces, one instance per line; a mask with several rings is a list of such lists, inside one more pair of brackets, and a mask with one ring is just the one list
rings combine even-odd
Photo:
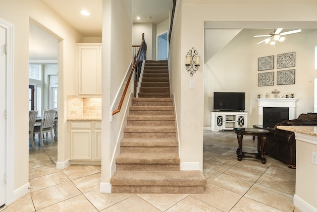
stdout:
[[[144,40],[144,33],[142,34],[142,42],[141,42],[140,47],[142,47],[142,46],[145,46],[145,51],[146,51],[146,43],[145,43],[145,40]],[[132,47],[134,47],[134,46],[132,46]],[[114,114],[116,114],[116,113],[119,113],[120,110],[121,110],[121,107],[122,107],[122,104],[123,104],[123,100],[124,100],[125,94],[126,94],[126,92],[128,90],[128,87],[129,87],[133,72],[135,73],[135,76],[136,76],[137,66],[139,66],[137,58],[140,57],[140,50],[141,50],[141,48],[139,49],[138,54],[136,56],[134,56],[133,62],[130,64],[130,67],[131,67],[131,65],[133,65],[133,66],[132,66],[128,81],[127,81],[127,83],[126,83],[126,85],[124,87],[124,90],[123,90],[123,93],[122,93],[118,108],[116,110],[112,111],[112,116]],[[145,54],[145,53],[142,53],[142,54]],[[145,56],[143,56],[143,59],[146,59],[146,54],[145,54]],[[135,85],[136,85],[137,81],[138,81],[138,78],[135,77],[134,78],[134,97],[136,95],[136,87],[135,87]]]

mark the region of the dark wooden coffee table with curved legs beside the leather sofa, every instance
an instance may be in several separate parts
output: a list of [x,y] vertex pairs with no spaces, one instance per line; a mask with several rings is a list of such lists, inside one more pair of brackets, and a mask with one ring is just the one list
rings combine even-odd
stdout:
[[[264,147],[266,143],[266,134],[269,133],[268,130],[257,129],[257,128],[234,128],[233,131],[237,134],[239,147],[237,148],[237,157],[241,161],[242,157],[252,157],[261,159],[262,163],[266,163],[266,158],[264,156]],[[252,136],[258,138],[258,152],[250,153],[242,151],[242,139],[243,136]],[[251,156],[254,155],[254,156]]]

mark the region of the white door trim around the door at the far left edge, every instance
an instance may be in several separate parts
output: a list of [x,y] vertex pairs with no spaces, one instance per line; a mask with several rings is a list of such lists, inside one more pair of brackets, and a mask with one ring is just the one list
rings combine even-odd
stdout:
[[1,27],[6,29],[6,132],[5,132],[5,152],[6,152],[6,204],[10,205],[16,199],[13,187],[13,25],[0,18]]

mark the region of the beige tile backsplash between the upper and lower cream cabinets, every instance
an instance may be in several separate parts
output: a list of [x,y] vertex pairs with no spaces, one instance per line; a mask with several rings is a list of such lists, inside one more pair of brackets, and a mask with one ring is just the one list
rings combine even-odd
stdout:
[[67,119],[102,116],[101,98],[67,96]]

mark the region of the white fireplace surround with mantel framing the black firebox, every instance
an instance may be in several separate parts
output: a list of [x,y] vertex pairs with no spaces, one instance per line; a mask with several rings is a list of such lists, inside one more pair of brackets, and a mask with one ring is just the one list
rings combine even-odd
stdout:
[[256,99],[258,101],[258,125],[263,125],[264,107],[288,107],[289,120],[296,119],[296,102],[298,98],[269,98]]

